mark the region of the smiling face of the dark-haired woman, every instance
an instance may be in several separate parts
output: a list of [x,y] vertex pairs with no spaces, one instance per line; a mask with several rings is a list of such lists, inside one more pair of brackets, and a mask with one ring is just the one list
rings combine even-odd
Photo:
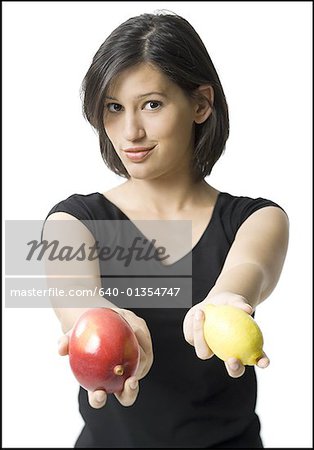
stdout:
[[122,72],[105,100],[104,127],[131,178],[191,172],[195,104],[160,70]]

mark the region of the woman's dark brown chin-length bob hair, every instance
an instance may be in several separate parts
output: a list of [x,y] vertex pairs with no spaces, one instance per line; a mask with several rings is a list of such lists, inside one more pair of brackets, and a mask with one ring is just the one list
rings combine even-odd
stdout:
[[229,136],[228,106],[216,69],[197,32],[184,18],[159,12],[141,14],[118,26],[100,46],[82,86],[83,114],[99,135],[102,157],[116,174],[129,174],[114,150],[104,128],[105,97],[110,83],[131,66],[151,63],[187,96],[210,84],[214,90],[212,112],[195,124],[193,172],[204,179],[224,151]]

